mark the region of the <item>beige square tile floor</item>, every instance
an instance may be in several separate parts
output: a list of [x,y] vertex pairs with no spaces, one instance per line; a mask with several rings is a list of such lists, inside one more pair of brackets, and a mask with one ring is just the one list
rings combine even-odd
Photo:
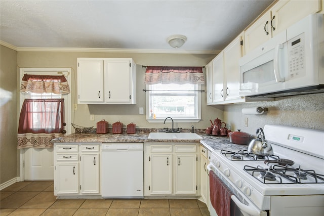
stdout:
[[0,215],[210,215],[196,199],[56,199],[53,189],[53,181],[17,182],[0,192]]

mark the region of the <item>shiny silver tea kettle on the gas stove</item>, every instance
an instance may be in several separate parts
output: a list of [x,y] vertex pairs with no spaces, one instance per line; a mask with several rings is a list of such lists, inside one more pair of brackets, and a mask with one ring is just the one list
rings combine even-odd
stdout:
[[250,142],[248,151],[256,155],[273,155],[272,146],[267,143],[263,129],[259,127],[256,133],[258,139],[253,139]]

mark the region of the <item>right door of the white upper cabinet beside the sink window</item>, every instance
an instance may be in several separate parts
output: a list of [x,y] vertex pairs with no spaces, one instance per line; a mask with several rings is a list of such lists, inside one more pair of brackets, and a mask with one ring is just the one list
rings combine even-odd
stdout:
[[114,59],[105,61],[105,83],[107,86],[105,101],[107,103],[131,103],[132,80],[131,61]]

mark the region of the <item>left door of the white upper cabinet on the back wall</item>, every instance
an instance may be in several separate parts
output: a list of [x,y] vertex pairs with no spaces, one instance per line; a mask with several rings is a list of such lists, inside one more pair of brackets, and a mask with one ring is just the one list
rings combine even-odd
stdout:
[[102,59],[78,59],[77,94],[78,103],[104,102]]

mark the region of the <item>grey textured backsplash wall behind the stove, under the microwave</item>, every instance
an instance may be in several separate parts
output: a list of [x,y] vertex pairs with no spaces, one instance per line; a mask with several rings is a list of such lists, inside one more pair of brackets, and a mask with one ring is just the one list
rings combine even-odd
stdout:
[[[247,115],[242,108],[267,107],[262,115]],[[244,125],[248,118],[248,126]],[[226,105],[224,121],[231,129],[241,129],[255,136],[258,127],[265,124],[280,124],[324,131],[324,93],[276,98],[271,102],[250,102]]]

